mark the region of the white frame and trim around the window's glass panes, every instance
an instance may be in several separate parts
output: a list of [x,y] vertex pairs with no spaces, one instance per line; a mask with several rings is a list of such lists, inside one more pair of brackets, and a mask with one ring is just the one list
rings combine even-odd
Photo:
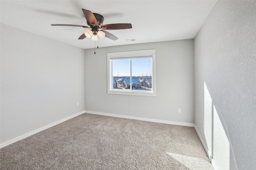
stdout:
[[[113,59],[132,59],[152,57],[152,90],[132,90],[130,89],[114,89],[113,88]],[[124,94],[137,96],[156,96],[156,50],[140,50],[140,51],[125,51],[116,53],[107,53],[107,83],[108,94]]]

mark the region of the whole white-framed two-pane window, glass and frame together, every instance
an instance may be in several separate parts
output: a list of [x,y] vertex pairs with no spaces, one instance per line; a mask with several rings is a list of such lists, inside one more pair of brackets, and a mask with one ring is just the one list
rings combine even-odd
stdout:
[[155,50],[108,53],[108,94],[156,96]]

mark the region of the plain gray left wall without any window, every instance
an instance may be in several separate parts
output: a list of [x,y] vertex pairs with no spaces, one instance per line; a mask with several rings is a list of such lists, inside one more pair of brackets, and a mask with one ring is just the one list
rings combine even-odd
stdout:
[[1,23],[0,142],[83,110],[84,49]]

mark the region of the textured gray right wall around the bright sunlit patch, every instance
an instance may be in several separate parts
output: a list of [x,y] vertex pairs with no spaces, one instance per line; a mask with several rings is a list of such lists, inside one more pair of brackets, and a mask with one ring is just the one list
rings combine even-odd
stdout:
[[218,1],[194,43],[195,125],[204,137],[205,82],[230,142],[230,169],[255,169],[256,1]]

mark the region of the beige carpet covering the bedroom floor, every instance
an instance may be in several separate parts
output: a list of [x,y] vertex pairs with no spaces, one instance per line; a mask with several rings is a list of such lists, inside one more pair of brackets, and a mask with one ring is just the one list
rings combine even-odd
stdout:
[[84,113],[0,149],[1,170],[213,170],[194,127]]

